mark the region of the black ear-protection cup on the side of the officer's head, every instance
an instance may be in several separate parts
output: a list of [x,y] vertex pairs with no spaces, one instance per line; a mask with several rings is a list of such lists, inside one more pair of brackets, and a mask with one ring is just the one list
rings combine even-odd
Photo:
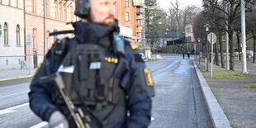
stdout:
[[90,13],[90,0],[76,0],[74,15],[80,18],[88,18]]

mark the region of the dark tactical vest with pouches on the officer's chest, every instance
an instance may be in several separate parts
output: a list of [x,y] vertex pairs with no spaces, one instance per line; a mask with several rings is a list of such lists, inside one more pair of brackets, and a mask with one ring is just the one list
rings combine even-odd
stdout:
[[[101,41],[105,44],[104,41],[109,40]],[[116,59],[108,61],[110,58],[106,55]],[[76,39],[73,39],[71,50],[64,55],[58,69],[74,105],[94,110],[125,104],[125,87],[121,86],[121,78],[126,71],[125,59],[104,45],[82,44]],[[64,105],[57,88],[53,95],[53,102]]]

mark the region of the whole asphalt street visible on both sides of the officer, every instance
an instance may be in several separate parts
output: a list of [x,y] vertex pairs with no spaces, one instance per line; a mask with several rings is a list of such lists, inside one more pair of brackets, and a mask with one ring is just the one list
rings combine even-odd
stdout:
[[[163,55],[149,60],[155,83],[152,122],[149,127],[207,127],[211,119],[201,94],[192,59],[182,55]],[[30,78],[0,82],[0,127],[47,127],[28,104]]]

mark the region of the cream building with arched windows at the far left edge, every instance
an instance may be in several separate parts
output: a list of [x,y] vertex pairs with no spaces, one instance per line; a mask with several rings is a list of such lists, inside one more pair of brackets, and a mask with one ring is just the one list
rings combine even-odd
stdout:
[[23,2],[0,0],[0,70],[21,69],[24,54]]

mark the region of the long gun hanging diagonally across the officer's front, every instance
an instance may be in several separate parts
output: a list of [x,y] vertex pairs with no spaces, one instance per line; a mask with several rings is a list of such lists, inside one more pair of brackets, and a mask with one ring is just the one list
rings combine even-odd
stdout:
[[[90,121],[90,118],[88,116],[84,116],[83,111],[79,107],[75,107],[73,105],[73,102],[71,101],[71,98],[69,96],[69,92],[67,92],[64,81],[59,73],[52,73],[48,76],[41,77],[40,78],[40,84],[44,83],[54,83],[55,86],[59,88],[59,92],[61,93],[62,97],[64,98],[64,102],[66,103],[67,107],[69,108],[69,111],[71,113],[71,116],[73,116],[73,120],[75,121],[78,128],[90,128],[88,125],[88,121]],[[85,123],[83,124],[83,119]]]

